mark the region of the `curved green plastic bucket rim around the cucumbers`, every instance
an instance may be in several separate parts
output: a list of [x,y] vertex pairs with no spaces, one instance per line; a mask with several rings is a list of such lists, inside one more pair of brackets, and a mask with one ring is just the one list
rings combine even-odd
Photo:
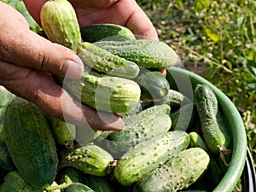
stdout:
[[190,99],[193,98],[193,90],[195,90],[196,84],[207,84],[217,96],[220,108],[224,112],[224,118],[230,129],[233,148],[230,166],[228,166],[224,177],[213,191],[231,192],[235,189],[241,177],[247,158],[247,136],[240,113],[233,102],[221,90],[218,90],[216,86],[201,76],[180,67],[170,67],[166,70],[166,73],[166,79],[168,79],[171,87]]

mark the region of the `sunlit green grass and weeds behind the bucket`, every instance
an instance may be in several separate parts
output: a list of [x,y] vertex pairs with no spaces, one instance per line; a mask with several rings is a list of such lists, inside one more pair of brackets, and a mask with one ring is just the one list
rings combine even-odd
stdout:
[[256,162],[256,3],[253,0],[143,0],[160,40],[183,66],[229,96],[241,113]]

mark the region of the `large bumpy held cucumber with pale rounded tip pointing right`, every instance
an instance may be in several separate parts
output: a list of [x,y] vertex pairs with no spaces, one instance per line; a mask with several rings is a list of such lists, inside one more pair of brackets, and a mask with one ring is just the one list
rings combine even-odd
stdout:
[[99,41],[94,44],[144,68],[168,68],[177,61],[175,51],[160,41],[137,39],[136,41]]

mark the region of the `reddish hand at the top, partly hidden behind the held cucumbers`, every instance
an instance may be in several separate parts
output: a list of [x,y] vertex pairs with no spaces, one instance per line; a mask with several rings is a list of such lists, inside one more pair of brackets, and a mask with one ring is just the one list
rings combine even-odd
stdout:
[[[24,0],[26,8],[40,24],[40,10],[46,0]],[[158,40],[157,32],[148,16],[135,0],[70,0],[76,10],[80,26],[113,23],[128,27],[143,38]]]

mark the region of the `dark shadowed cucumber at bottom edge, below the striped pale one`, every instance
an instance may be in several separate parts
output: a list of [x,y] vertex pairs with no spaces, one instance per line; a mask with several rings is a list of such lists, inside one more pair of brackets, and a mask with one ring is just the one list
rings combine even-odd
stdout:
[[98,177],[90,174],[84,174],[84,184],[96,192],[114,192],[108,177]]

